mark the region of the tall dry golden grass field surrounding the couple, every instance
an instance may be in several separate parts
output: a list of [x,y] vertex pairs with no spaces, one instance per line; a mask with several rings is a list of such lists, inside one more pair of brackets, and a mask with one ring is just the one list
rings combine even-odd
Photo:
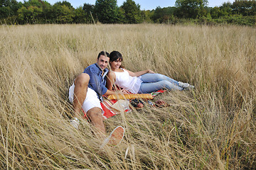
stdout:
[[[255,47],[242,26],[1,26],[0,169],[256,169]],[[105,120],[126,134],[100,151],[87,120],[68,123],[68,88],[101,50],[196,89]]]

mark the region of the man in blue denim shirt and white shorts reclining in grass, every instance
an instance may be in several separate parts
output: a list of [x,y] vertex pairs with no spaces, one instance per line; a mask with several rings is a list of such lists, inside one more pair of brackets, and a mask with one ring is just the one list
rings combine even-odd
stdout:
[[[96,136],[100,139],[104,139],[106,134],[100,100],[102,99],[103,94],[116,94],[114,91],[110,91],[105,87],[106,75],[108,72],[107,65],[109,61],[110,54],[104,51],[100,52],[97,57],[97,62],[85,68],[85,71],[78,75],[74,84],[70,86],[69,89],[69,100],[73,103],[75,111],[75,118],[71,120],[71,124],[78,129],[78,118],[80,118],[80,110],[82,108],[87,114],[87,117],[91,120],[92,125],[95,126],[97,130]],[[124,129],[122,127],[117,127],[110,134],[110,137],[113,137],[113,135],[117,138],[121,138],[121,136],[123,137]],[[108,140],[111,140],[108,138],[107,142]],[[122,139],[115,140],[121,141]],[[106,143],[106,140],[104,143]]]

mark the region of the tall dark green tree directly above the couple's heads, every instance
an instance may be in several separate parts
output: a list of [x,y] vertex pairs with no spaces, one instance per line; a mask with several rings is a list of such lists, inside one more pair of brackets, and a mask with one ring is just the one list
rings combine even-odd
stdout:
[[119,21],[117,0],[96,0],[94,11],[101,23],[118,23]]

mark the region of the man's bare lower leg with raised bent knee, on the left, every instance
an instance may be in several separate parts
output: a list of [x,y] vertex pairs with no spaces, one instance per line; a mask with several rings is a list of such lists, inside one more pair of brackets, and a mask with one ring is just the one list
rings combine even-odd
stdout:
[[80,117],[80,110],[82,108],[82,103],[86,98],[89,80],[90,76],[86,73],[79,74],[75,79],[73,106],[75,110],[75,117],[77,118]]

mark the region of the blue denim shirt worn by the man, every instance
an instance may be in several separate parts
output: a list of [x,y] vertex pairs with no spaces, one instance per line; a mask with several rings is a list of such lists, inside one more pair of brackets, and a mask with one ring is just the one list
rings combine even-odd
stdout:
[[90,76],[90,81],[88,87],[97,93],[98,98],[102,99],[102,95],[107,92],[106,87],[106,75],[109,70],[104,69],[104,74],[102,75],[102,69],[95,64],[91,64],[86,67],[83,73],[87,73]]

